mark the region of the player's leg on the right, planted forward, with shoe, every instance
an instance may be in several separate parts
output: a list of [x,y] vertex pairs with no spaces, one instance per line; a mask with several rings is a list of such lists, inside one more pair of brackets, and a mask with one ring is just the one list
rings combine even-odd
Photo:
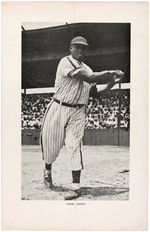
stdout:
[[80,196],[81,170],[83,169],[81,141],[84,135],[85,113],[84,108],[79,109],[69,120],[66,127],[66,147],[68,153],[69,169],[72,171],[71,189],[73,192],[65,197],[71,200]]

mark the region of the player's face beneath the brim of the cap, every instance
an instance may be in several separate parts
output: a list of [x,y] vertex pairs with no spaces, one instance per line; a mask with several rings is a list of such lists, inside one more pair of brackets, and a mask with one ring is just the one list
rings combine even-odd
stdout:
[[83,60],[86,50],[87,50],[87,46],[82,44],[73,44],[70,46],[71,55],[76,60]]

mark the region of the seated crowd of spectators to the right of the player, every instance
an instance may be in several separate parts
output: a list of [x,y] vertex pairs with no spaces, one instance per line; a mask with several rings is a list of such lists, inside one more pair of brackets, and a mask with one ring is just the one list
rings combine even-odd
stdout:
[[[120,96],[119,96],[120,94]],[[129,90],[109,91],[99,99],[90,98],[86,108],[87,129],[107,129],[120,127],[129,129],[130,121],[130,92]],[[120,117],[119,117],[120,98]]]

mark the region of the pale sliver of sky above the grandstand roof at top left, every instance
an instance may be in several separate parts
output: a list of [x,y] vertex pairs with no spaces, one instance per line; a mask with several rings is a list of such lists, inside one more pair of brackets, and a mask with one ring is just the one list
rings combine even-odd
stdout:
[[[70,22],[67,22],[70,23]],[[35,30],[47,27],[55,27],[65,25],[66,22],[23,22],[21,25],[25,30]]]

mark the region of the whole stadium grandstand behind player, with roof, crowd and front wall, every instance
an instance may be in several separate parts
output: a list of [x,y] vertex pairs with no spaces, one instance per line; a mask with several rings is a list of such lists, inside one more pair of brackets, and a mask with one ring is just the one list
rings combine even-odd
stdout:
[[66,23],[30,30],[22,26],[22,144],[39,144],[43,116],[55,91],[57,65],[70,54],[70,41],[78,35],[90,45],[85,63],[93,71],[125,72],[122,83],[99,99],[89,98],[83,144],[129,146],[129,23]]

